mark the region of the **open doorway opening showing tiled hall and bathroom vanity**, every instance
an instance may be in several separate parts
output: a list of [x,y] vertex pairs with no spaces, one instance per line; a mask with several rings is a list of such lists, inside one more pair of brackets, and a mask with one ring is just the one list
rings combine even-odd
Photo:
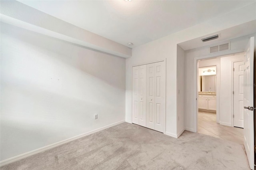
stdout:
[[243,57],[235,53],[197,60],[198,133],[244,143]]

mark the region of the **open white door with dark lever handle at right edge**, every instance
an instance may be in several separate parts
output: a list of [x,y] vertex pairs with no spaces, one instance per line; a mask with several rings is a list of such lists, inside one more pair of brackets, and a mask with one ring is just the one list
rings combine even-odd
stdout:
[[244,147],[252,170],[254,170],[253,55],[254,37],[251,37],[244,55]]

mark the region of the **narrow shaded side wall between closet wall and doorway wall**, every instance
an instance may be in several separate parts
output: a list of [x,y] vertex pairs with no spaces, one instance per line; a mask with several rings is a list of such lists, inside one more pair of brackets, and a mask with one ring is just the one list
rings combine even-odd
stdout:
[[184,131],[184,96],[185,96],[185,53],[177,45],[177,137]]

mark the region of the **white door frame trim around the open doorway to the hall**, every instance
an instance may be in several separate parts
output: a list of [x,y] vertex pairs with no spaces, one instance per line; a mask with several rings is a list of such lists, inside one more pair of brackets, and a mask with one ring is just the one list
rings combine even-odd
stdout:
[[[223,51],[223,52],[218,52],[218,53],[213,53],[213,54],[209,54],[209,55],[203,55],[200,57],[195,57],[194,58],[194,67],[193,67],[193,132],[197,132],[198,130],[198,61],[202,60],[202,59],[211,59],[214,57],[221,57],[221,56],[225,56],[225,55],[231,55],[231,54],[236,54],[236,53],[242,53],[244,52],[243,49],[236,49],[236,50],[228,50],[228,51]],[[217,106],[218,109],[220,109],[220,95],[216,94],[216,100],[217,100]],[[216,106],[216,107],[217,107]],[[217,112],[217,108],[216,108],[216,112]],[[220,110],[218,111],[220,113]]]

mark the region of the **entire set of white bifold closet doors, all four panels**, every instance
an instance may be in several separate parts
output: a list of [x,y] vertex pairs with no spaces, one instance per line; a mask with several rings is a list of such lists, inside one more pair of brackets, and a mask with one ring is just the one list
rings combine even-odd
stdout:
[[132,67],[132,123],[165,131],[165,62]]

